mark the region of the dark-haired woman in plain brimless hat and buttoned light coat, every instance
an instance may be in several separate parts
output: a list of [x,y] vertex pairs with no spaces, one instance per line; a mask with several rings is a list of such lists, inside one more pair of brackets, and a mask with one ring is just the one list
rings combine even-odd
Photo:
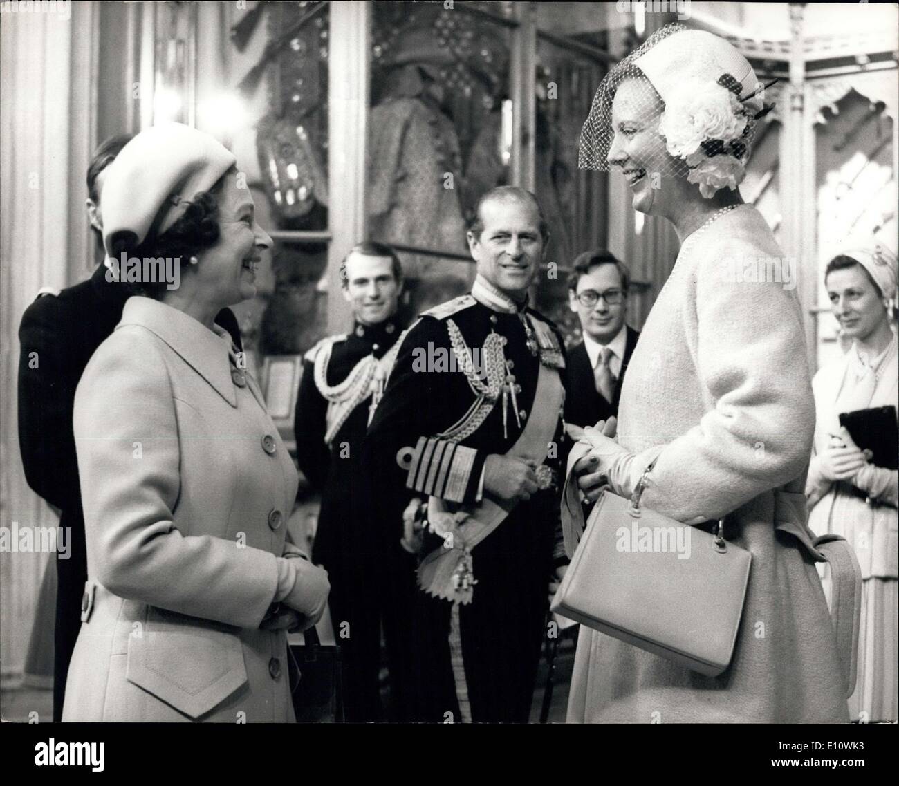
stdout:
[[[166,124],[103,184],[110,276],[143,296],[76,392],[88,582],[63,720],[294,720],[286,631],[329,587],[286,542],[297,473],[213,322],[254,296],[271,247],[234,164]],[[141,264],[165,258],[183,264]]]

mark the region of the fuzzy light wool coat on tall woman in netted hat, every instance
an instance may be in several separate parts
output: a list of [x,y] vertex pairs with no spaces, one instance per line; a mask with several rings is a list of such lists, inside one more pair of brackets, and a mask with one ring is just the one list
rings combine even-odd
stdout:
[[797,478],[804,506],[814,400],[795,294],[731,275],[758,258],[783,252],[748,205],[687,239],[619,405],[619,444],[644,465],[661,447],[642,503],[688,524],[729,514],[728,540],[752,552],[734,658],[701,676],[582,627],[569,721],[849,720],[821,581],[775,515],[774,490]]

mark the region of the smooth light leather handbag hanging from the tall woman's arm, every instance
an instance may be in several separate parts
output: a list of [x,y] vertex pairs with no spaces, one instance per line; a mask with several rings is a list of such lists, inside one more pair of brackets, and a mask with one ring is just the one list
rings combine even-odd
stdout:
[[605,490],[565,572],[552,610],[707,676],[730,664],[752,554]]

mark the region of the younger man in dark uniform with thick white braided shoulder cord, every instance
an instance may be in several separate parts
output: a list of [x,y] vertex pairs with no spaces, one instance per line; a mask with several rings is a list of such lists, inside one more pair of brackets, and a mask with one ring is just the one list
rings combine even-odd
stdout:
[[[396,252],[360,243],[343,264],[354,324],[307,352],[294,428],[299,468],[321,493],[312,559],[328,571],[334,635],[343,649],[344,717],[384,720],[378,690],[381,623],[390,671],[390,720],[406,720],[402,680],[410,657],[414,557],[379,537],[362,471],[362,439],[390,373],[402,328],[396,306],[403,271]],[[402,615],[402,620],[397,617]]]

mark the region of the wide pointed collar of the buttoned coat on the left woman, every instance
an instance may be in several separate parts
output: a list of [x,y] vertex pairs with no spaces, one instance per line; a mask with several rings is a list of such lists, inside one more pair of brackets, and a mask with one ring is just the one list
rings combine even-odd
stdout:
[[232,407],[237,406],[231,362],[231,340],[222,328],[210,331],[189,314],[150,297],[133,296],[121,314],[123,325],[141,325],[155,333],[180,355],[184,362],[216,389]]

